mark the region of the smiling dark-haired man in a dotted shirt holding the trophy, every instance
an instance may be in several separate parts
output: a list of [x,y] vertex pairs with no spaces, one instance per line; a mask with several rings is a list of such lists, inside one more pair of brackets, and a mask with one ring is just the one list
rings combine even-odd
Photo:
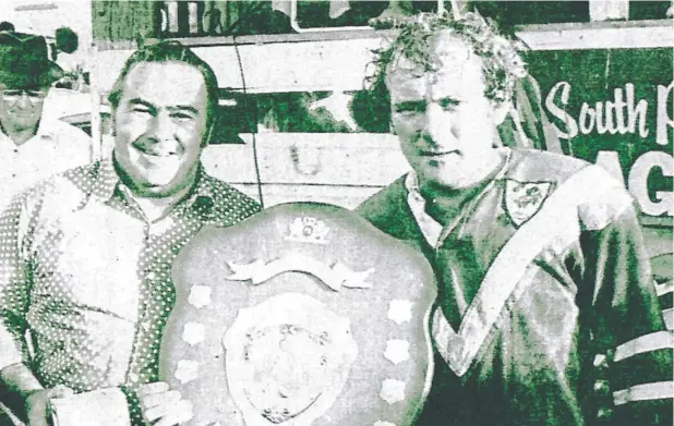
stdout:
[[[202,226],[260,209],[204,172],[218,86],[190,49],[140,49],[109,99],[111,159],[21,194],[0,217],[0,376],[32,426],[47,424],[51,399],[100,390],[112,395],[103,424],[189,419],[189,402],[156,382],[172,259]],[[124,395],[130,413],[116,417]]]

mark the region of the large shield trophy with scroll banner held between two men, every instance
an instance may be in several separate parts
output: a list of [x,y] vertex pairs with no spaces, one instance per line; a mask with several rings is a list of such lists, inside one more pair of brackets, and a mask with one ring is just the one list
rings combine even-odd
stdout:
[[340,207],[205,228],[173,264],[160,377],[191,426],[406,426],[429,391],[421,253]]

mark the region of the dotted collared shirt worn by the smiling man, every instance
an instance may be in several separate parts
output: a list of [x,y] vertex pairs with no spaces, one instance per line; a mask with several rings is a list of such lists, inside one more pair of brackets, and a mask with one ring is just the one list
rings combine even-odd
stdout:
[[0,217],[0,368],[24,362],[47,387],[122,387],[158,379],[174,301],[171,263],[204,224],[260,210],[200,169],[195,187],[148,222],[111,160],[16,196]]

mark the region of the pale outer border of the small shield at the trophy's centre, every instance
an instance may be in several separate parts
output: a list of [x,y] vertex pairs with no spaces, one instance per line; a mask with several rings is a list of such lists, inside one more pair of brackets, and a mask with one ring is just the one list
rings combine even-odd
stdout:
[[[292,308],[289,309],[288,306]],[[317,317],[316,313],[323,314],[323,317]],[[296,417],[281,422],[284,426],[311,426],[316,418],[327,413],[346,386],[351,365],[358,357],[358,345],[351,334],[350,319],[337,315],[323,302],[312,296],[296,292],[280,293],[255,306],[241,308],[232,325],[222,336],[221,342],[226,353],[227,385],[246,426],[276,426],[277,424],[265,418],[245,394],[245,385],[250,380],[246,377],[250,368],[243,366],[245,336],[252,328],[285,324],[301,324],[310,330],[322,330],[328,327],[333,331],[330,336],[337,338],[333,346],[342,350],[341,365],[345,367],[338,372],[333,370],[332,384],[324,389],[314,403]]]

